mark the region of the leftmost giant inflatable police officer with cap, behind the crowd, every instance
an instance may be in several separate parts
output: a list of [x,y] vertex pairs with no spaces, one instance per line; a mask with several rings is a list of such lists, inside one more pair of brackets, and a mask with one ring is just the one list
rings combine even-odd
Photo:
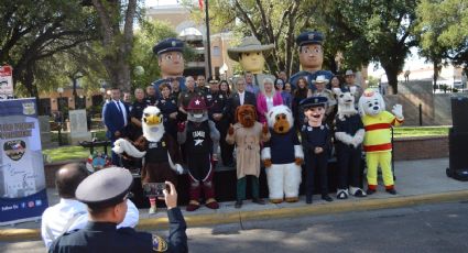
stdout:
[[175,37],[165,38],[153,46],[161,69],[161,79],[153,81],[156,92],[161,84],[174,80],[178,81],[181,90],[185,90],[183,51],[184,42]]

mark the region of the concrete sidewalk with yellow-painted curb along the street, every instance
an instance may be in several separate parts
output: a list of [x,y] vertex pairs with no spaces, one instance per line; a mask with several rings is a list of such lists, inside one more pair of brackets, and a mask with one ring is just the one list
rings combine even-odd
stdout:
[[[275,219],[297,216],[312,216],[359,211],[371,209],[396,208],[442,201],[468,200],[468,183],[448,178],[445,168],[448,158],[400,161],[395,162],[395,187],[398,195],[392,196],[383,187],[367,198],[350,197],[347,200],[325,202],[319,196],[314,196],[314,204],[306,205],[304,197],[296,204],[268,204],[259,206],[244,201],[241,209],[236,209],[233,202],[221,202],[218,210],[202,207],[195,212],[184,211],[188,227],[237,223],[244,220]],[[50,205],[58,202],[55,189],[47,189]],[[15,227],[0,227],[0,240],[30,240],[40,239],[40,221],[24,222]],[[139,230],[156,230],[167,228],[166,213],[160,209],[157,213],[149,216],[148,209],[140,210]]]

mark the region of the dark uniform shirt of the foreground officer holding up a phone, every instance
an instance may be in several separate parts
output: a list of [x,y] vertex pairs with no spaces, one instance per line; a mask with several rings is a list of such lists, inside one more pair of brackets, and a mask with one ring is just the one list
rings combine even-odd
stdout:
[[116,223],[91,222],[86,228],[67,232],[55,240],[50,253],[129,253],[188,252],[187,228],[181,209],[167,211],[168,240],[132,228],[116,229]]

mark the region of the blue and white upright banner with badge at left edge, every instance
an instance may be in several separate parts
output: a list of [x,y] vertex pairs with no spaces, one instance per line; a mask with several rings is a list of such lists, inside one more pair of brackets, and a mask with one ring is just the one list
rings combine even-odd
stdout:
[[36,220],[47,208],[35,99],[0,100],[0,226]]

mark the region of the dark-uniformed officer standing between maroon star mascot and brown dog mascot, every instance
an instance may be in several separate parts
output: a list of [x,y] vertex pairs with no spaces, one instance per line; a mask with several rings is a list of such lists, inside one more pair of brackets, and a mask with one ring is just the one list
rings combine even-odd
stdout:
[[206,95],[206,100],[209,105],[208,118],[215,122],[216,129],[221,135],[219,146],[221,148],[221,161],[225,166],[233,166],[233,145],[226,142],[226,134],[229,129],[229,113],[228,113],[228,97],[225,92],[219,90],[219,81],[210,79],[209,94]]

